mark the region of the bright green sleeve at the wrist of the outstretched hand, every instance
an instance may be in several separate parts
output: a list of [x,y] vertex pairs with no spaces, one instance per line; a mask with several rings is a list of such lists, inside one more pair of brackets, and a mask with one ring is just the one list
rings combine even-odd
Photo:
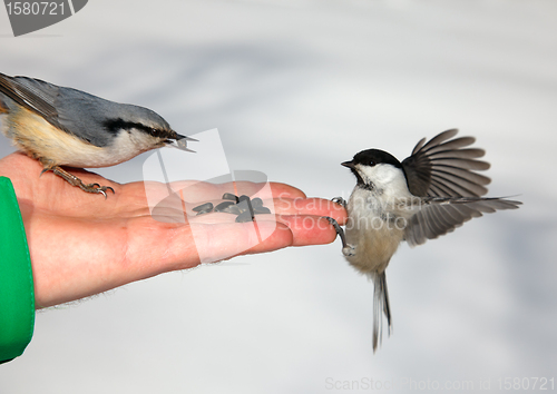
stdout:
[[13,186],[0,177],[0,364],[23,353],[33,326],[35,290],[26,229]]

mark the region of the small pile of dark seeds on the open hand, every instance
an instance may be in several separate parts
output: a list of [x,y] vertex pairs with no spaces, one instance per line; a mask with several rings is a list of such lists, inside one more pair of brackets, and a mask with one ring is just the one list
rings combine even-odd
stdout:
[[195,208],[197,215],[215,213],[227,213],[236,215],[236,223],[253,221],[255,215],[271,214],[271,209],[263,206],[263,200],[258,197],[251,199],[246,195],[236,196],[232,193],[223,195],[225,201],[218,204],[216,207],[213,203],[205,203]]

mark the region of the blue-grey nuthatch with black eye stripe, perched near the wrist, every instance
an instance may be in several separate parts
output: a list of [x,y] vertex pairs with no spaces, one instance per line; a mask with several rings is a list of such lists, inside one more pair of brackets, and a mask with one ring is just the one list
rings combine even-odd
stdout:
[[0,73],[2,132],[70,185],[106,197],[114,189],[85,185],[60,166],[108,167],[144,151],[174,146],[187,149],[180,136],[150,109],[108,101],[39,79]]

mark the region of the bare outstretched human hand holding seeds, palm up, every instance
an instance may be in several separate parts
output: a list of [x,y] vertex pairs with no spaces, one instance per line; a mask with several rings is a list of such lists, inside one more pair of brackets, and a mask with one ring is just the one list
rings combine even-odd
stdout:
[[[70,169],[84,183],[114,188],[115,195],[108,191],[105,199],[51,173],[39,177],[41,170],[37,160],[20,152],[0,159],[0,175],[11,179],[20,205],[38,308],[195,267],[201,264],[201,254],[203,262],[218,262],[287,246],[328,244],[336,233],[322,216],[341,225],[346,219],[340,205],[306,198],[285,184],[272,183],[267,188],[252,183],[120,185],[97,174]],[[169,187],[187,190],[185,201],[180,200],[178,207],[163,201],[152,215],[147,196],[167,196]],[[224,213],[192,216],[192,207],[234,187],[261,197],[265,206],[274,207],[273,214],[257,215],[254,223],[235,223],[234,215]],[[177,209],[180,206],[182,210]]]

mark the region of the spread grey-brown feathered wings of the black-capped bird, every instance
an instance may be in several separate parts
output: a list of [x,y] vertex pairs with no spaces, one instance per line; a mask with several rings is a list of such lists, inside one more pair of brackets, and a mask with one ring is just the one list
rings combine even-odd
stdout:
[[457,134],[451,129],[428,142],[423,138],[402,161],[410,193],[427,197],[405,228],[404,238],[411,246],[450,233],[483,213],[515,209],[521,204],[480,197],[490,179],[476,171],[488,169],[489,162],[478,160],[485,155],[482,149],[467,148],[475,142],[473,137],[453,138]]

